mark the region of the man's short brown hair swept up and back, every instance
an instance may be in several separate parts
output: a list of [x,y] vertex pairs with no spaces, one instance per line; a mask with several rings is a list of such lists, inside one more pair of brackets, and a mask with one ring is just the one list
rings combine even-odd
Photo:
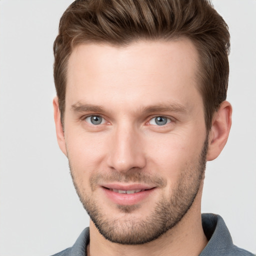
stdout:
[[81,43],[128,45],[139,39],[189,38],[199,54],[198,82],[206,128],[226,98],[229,32],[208,0],[76,0],[65,10],[54,41],[54,82],[61,121],[65,110],[66,69]]

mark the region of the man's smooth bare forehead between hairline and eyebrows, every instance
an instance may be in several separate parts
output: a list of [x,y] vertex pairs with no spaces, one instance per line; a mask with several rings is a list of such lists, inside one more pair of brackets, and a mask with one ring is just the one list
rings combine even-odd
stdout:
[[144,105],[155,97],[184,101],[198,91],[197,60],[193,43],[185,38],[141,40],[125,47],[80,44],[68,60],[66,103],[98,104],[106,97]]

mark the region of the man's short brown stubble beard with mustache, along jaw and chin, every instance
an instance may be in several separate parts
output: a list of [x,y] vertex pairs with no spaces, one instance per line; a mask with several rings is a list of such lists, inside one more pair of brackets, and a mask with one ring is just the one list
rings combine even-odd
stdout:
[[[187,164],[186,169],[182,171],[179,181],[172,189],[171,195],[169,197],[162,195],[160,200],[155,203],[154,210],[144,219],[135,219],[132,215],[129,217],[129,213],[140,207],[139,204],[117,205],[116,207],[119,211],[125,213],[125,217],[109,216],[92,196],[83,193],[82,188],[77,185],[70,162],[69,167],[79,199],[100,234],[105,239],[119,244],[143,244],[158,238],[174,227],[187,213],[204,178],[207,148],[208,137],[204,141],[199,157],[194,162]],[[91,176],[90,186],[92,191],[97,180],[102,177],[104,175]],[[163,178],[158,176],[148,177],[146,174],[141,174],[141,172],[114,173],[112,176],[104,177],[104,179],[107,178],[112,181],[123,182],[140,182],[142,180],[149,182],[151,180],[154,184],[158,184],[159,187],[163,187],[166,184]]]

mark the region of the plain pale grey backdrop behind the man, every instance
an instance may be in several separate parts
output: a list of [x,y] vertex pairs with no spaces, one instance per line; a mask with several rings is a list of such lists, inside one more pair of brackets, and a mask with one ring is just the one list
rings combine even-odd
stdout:
[[[0,0],[0,255],[71,246],[89,218],[55,138],[52,43],[71,0]],[[213,0],[230,28],[233,123],[208,162],[202,212],[220,214],[256,252],[256,1]]]

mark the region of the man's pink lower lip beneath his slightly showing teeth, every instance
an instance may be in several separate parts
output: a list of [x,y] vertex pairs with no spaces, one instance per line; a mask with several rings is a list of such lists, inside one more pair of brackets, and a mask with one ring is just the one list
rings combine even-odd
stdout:
[[120,205],[133,205],[133,204],[139,203],[140,201],[148,197],[153,192],[153,190],[155,190],[155,188],[151,188],[151,189],[140,191],[137,193],[124,194],[124,193],[114,192],[105,187],[102,187],[102,188],[106,196],[111,201]]

